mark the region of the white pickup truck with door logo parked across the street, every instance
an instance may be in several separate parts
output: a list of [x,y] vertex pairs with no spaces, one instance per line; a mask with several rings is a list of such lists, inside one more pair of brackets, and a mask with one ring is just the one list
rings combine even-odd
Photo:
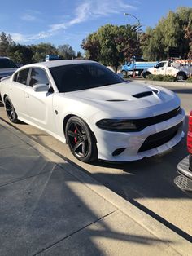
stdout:
[[160,61],[152,68],[146,68],[142,72],[142,76],[146,77],[150,74],[153,75],[170,75],[177,77],[177,80],[185,80],[191,75],[192,67],[190,64],[182,65],[177,62],[170,62],[168,60]]

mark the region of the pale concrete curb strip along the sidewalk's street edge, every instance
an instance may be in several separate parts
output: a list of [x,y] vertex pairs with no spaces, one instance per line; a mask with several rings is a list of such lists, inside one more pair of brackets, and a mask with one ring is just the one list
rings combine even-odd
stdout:
[[181,255],[190,255],[192,250],[190,241],[186,241],[184,238],[177,235],[177,233],[172,232],[172,230],[165,227],[164,224],[159,223],[157,220],[155,220],[155,218],[152,218],[142,210],[139,210],[129,201],[125,201],[115,192],[112,192],[110,189],[104,187],[103,184],[98,183],[98,181],[93,179],[89,174],[85,174],[68,161],[64,161],[63,158],[59,157],[54,152],[51,152],[49,149],[41,146],[41,144],[33,141],[33,139],[30,139],[28,135],[24,135],[24,133],[20,132],[20,130],[15,130],[12,126],[9,126],[4,121],[2,121],[2,125],[7,130],[10,130],[11,133],[20,137],[20,139],[22,139],[25,143],[28,143],[28,145],[37,149],[38,152],[41,152],[42,156],[48,158],[52,162],[55,162],[64,170],[68,171],[69,174],[76,177],[76,179],[79,179],[87,188],[91,189],[99,196],[102,196],[106,201],[110,202],[111,205],[115,205],[116,208],[118,208],[121,212],[123,212],[129,218],[132,218],[133,221],[144,227],[148,232],[151,232],[152,235],[156,236],[162,241],[166,239],[171,241],[171,243],[167,245],[175,252]]

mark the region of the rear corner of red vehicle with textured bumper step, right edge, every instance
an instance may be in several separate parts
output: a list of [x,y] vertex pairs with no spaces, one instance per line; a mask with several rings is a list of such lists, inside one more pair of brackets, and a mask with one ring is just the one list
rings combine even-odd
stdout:
[[192,111],[189,116],[189,128],[187,133],[187,149],[190,155],[185,157],[178,165],[177,172],[180,174],[174,179],[177,187],[186,192],[192,192]]

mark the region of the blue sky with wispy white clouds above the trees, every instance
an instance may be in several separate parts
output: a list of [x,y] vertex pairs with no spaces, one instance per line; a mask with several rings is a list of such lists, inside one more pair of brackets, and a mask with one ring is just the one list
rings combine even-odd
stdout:
[[74,51],[83,52],[82,40],[105,24],[136,24],[139,20],[145,31],[177,7],[192,7],[192,0],[2,1],[0,32],[11,34],[23,45],[69,44]]

